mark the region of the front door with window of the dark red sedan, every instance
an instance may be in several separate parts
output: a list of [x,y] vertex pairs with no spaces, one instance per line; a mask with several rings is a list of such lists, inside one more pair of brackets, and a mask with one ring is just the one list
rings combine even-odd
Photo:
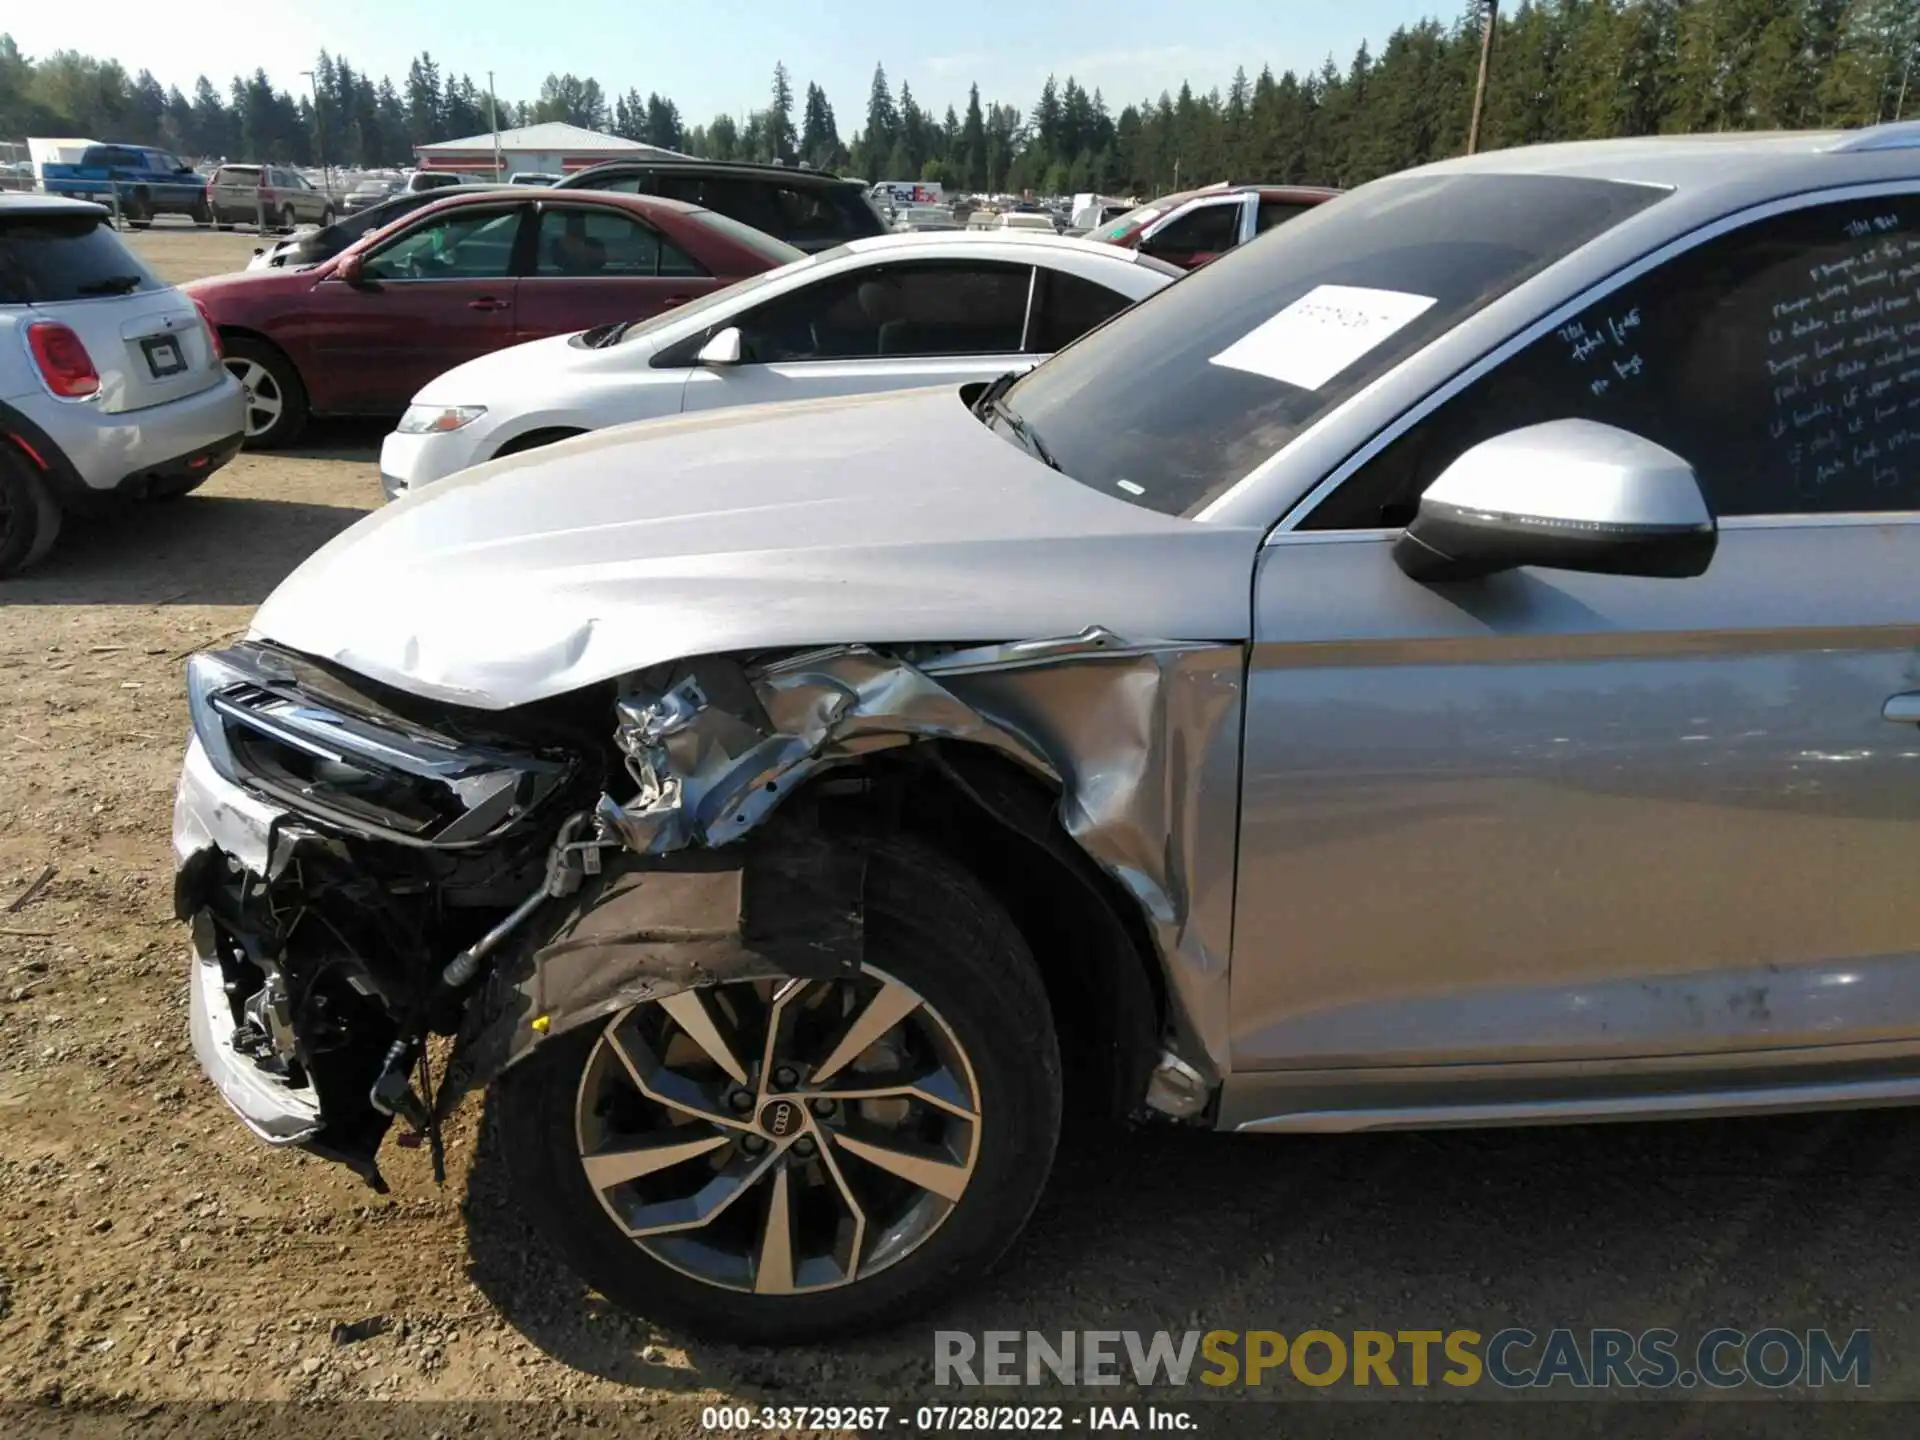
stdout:
[[397,415],[436,374],[513,344],[526,213],[526,204],[440,211],[371,250],[359,284],[321,280],[315,409]]

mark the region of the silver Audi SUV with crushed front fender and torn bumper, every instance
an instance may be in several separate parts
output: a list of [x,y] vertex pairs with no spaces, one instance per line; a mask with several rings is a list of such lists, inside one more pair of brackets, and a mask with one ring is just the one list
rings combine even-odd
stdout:
[[486,1087],[588,1283],[766,1342],[1081,1114],[1914,1102],[1916,161],[1446,161],[1018,380],[369,515],[188,666],[200,1062],[374,1185]]

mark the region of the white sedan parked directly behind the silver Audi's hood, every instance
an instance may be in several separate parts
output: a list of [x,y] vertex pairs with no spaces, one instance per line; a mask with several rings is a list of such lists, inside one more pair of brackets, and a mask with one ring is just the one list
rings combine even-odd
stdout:
[[380,447],[394,499],[586,430],[1023,371],[1185,271],[1056,234],[854,240],[651,321],[534,340],[428,384]]

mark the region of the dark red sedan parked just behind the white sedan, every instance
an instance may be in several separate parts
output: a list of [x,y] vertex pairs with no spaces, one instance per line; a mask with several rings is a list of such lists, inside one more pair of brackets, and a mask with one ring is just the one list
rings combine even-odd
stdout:
[[309,415],[399,415],[442,371],[522,340],[634,321],[803,259],[699,205],[595,190],[449,196],[307,271],[184,290],[248,388],[246,444]]

